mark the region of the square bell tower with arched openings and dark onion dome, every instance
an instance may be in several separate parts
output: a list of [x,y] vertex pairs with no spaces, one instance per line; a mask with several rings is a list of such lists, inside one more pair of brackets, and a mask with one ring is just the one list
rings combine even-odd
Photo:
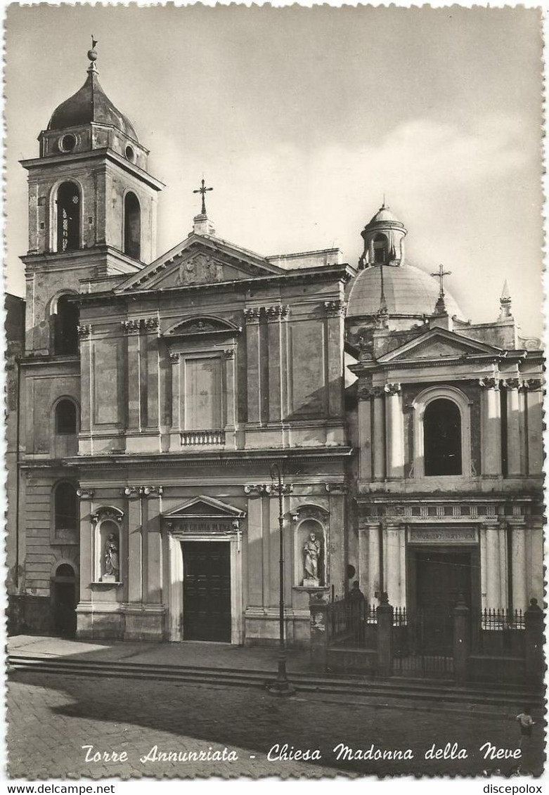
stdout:
[[156,256],[164,185],[149,174],[149,150],[99,83],[96,44],[85,83],[39,135],[39,157],[21,161],[29,173],[29,250],[21,257],[28,354],[77,353],[67,342],[77,323],[70,296],[102,289],[105,279],[112,284]]

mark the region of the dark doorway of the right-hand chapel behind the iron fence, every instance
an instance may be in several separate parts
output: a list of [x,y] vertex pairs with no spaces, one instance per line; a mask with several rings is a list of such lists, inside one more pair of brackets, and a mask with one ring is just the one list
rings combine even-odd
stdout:
[[416,552],[416,642],[423,653],[452,654],[452,610],[460,595],[470,607],[470,594],[470,552]]

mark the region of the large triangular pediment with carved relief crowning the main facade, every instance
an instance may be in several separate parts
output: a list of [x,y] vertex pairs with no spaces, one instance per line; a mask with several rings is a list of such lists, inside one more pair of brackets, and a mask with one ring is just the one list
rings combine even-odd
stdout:
[[132,273],[115,292],[217,285],[279,273],[284,270],[259,254],[221,238],[193,233],[139,273]]

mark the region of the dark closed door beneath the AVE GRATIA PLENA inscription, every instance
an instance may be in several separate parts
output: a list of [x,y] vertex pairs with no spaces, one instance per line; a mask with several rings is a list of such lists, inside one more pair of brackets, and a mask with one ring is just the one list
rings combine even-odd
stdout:
[[230,544],[182,541],[183,638],[230,643]]

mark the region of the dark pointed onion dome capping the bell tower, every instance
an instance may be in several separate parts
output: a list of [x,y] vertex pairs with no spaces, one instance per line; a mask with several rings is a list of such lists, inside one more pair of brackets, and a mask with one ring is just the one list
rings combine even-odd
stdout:
[[87,69],[86,82],[72,97],[65,99],[59,107],[56,107],[52,118],[49,120],[48,130],[64,130],[67,127],[96,122],[115,127],[127,135],[128,138],[133,138],[133,141],[138,142],[137,134],[131,122],[124,114],[118,111],[118,108],[114,107],[105,91],[102,90],[95,65],[97,60],[95,44],[97,44],[96,41],[93,42],[94,46],[87,53],[91,64]]

